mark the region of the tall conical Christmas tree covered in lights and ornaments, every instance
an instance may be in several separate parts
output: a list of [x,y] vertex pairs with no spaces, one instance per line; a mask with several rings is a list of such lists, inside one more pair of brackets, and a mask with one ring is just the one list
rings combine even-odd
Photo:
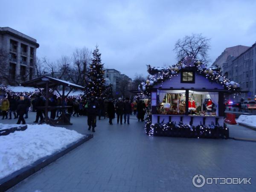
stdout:
[[101,63],[101,53],[99,53],[98,45],[93,51],[93,57],[91,58],[91,64],[89,67],[87,90],[85,91],[86,97],[90,96],[104,96],[105,90],[105,79],[104,79],[104,70]]

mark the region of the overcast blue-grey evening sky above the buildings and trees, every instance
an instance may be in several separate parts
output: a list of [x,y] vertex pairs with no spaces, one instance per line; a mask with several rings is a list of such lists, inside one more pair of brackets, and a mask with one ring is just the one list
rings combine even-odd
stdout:
[[226,47],[256,41],[255,0],[1,0],[0,26],[36,38],[54,61],[99,45],[105,67],[134,77],[146,64],[175,64],[179,38],[211,38],[212,61]]

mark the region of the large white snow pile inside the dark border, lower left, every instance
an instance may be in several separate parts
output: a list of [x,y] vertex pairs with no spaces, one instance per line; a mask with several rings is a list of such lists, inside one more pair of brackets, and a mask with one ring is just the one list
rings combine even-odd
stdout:
[[0,136],[0,179],[81,137],[76,131],[50,125],[28,125],[25,131]]

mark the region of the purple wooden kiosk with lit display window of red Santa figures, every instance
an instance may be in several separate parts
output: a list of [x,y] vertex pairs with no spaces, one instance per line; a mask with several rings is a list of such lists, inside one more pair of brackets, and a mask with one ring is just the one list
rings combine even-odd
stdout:
[[181,69],[172,79],[151,88],[152,124],[183,122],[196,126],[213,122],[224,126],[224,94],[229,92],[194,67]]

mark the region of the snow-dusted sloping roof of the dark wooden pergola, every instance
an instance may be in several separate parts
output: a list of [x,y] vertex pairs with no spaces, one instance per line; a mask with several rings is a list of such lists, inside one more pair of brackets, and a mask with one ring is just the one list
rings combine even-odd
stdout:
[[39,77],[36,79],[32,79],[30,81],[25,81],[25,82],[21,83],[21,85],[28,86],[28,87],[42,88],[42,87],[46,86],[47,81],[49,83],[48,84],[49,88],[57,87],[58,85],[64,85],[64,86],[75,88],[75,89],[81,89],[81,90],[84,89],[84,87],[77,85],[77,84],[70,83],[69,81],[55,79],[55,78],[48,77],[48,76],[42,76],[42,77]]

